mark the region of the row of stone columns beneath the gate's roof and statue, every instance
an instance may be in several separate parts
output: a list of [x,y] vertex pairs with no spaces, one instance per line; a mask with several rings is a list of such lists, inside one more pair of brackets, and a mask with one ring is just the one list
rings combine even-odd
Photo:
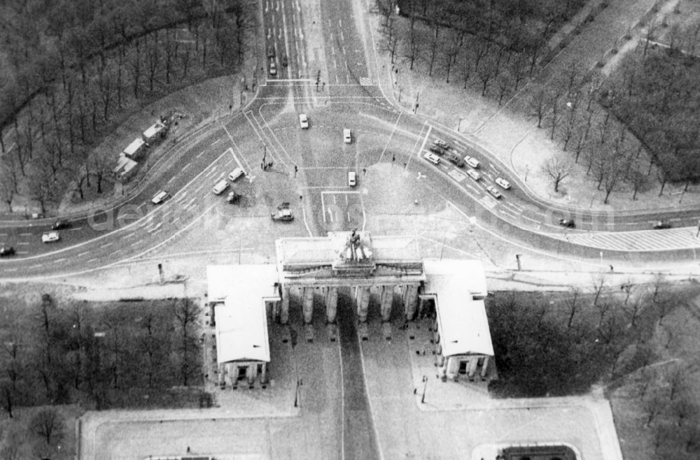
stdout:
[[[391,319],[391,306],[393,304],[394,295],[397,292],[402,299],[403,314],[407,320],[411,320],[416,315],[418,306],[418,290],[419,284],[412,285],[378,285],[378,286],[349,286],[351,294],[355,299],[357,318],[360,323],[367,322],[367,313],[370,306],[370,297],[372,290],[378,291],[379,310],[382,322],[388,322]],[[337,316],[337,301],[338,301],[339,286],[300,286],[300,285],[283,285],[281,287],[282,300],[279,303],[279,310],[276,315],[279,317],[281,324],[289,322],[289,302],[291,297],[295,297],[300,301],[302,306],[302,317],[304,324],[311,324],[314,317],[314,297],[318,294],[323,296],[323,306],[325,308],[325,321],[328,324],[335,324]]]

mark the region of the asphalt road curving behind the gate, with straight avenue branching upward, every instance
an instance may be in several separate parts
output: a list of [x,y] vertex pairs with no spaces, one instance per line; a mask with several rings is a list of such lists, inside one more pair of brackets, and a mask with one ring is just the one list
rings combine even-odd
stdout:
[[[267,69],[274,62],[279,71],[268,75],[253,101],[172,148],[137,193],[110,208],[72,217],[57,243],[41,243],[48,220],[3,222],[0,246],[13,246],[17,254],[0,259],[1,274],[13,278],[89,271],[146,254],[211,213],[235,216],[238,210],[213,196],[211,186],[240,166],[248,176],[235,186],[243,192],[253,189],[255,175],[262,173],[262,145],[276,171],[304,182],[314,228],[363,224],[360,171],[391,162],[417,178],[427,177],[436,192],[486,227],[505,229],[513,238],[546,250],[595,257],[603,247],[611,255],[648,252],[652,257],[659,250],[692,254],[700,246],[690,228],[648,231],[661,219],[674,227],[694,226],[700,213],[692,207],[603,213],[553,205],[531,194],[477,139],[394,108],[367,65],[372,59],[366,50],[373,47],[358,32],[363,24],[353,7],[359,8],[351,1],[321,2],[319,10],[306,15],[298,1],[263,2]],[[312,38],[320,38],[321,45]],[[310,129],[299,128],[298,113],[307,113]],[[351,144],[342,143],[345,127],[353,131]],[[460,156],[479,159],[482,180],[472,180],[464,168],[444,158],[437,166],[423,159],[438,138]],[[357,189],[346,185],[350,170],[358,172]],[[498,176],[513,187],[497,200],[486,186],[495,185]],[[154,206],[151,197],[161,189],[172,197]],[[254,209],[261,219],[268,214]],[[577,229],[559,227],[561,218],[574,219]],[[624,236],[615,236],[620,231]]]

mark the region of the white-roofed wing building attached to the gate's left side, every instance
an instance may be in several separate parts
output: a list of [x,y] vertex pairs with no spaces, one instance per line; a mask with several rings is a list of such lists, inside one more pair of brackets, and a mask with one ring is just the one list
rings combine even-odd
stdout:
[[267,313],[280,301],[274,265],[207,266],[211,322],[216,326],[218,382],[267,384]]

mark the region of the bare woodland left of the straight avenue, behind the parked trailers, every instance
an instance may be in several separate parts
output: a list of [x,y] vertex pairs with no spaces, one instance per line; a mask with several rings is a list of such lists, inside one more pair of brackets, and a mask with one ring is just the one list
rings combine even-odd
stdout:
[[[2,22],[13,78],[0,87],[0,199],[10,212],[20,194],[43,212],[69,185],[80,198],[91,181],[102,192],[116,152],[92,147],[154,96],[237,69],[254,25],[242,0],[87,3],[68,11],[60,3],[45,17],[2,7],[13,18]],[[31,31],[52,14],[60,17],[45,41],[15,27],[34,18]]]

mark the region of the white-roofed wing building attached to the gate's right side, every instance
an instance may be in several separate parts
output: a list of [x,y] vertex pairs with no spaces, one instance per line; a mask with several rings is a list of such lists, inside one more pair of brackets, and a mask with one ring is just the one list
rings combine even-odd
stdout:
[[443,378],[491,380],[496,368],[486,317],[486,275],[481,261],[423,260],[426,282],[421,310],[435,306],[435,345]]

